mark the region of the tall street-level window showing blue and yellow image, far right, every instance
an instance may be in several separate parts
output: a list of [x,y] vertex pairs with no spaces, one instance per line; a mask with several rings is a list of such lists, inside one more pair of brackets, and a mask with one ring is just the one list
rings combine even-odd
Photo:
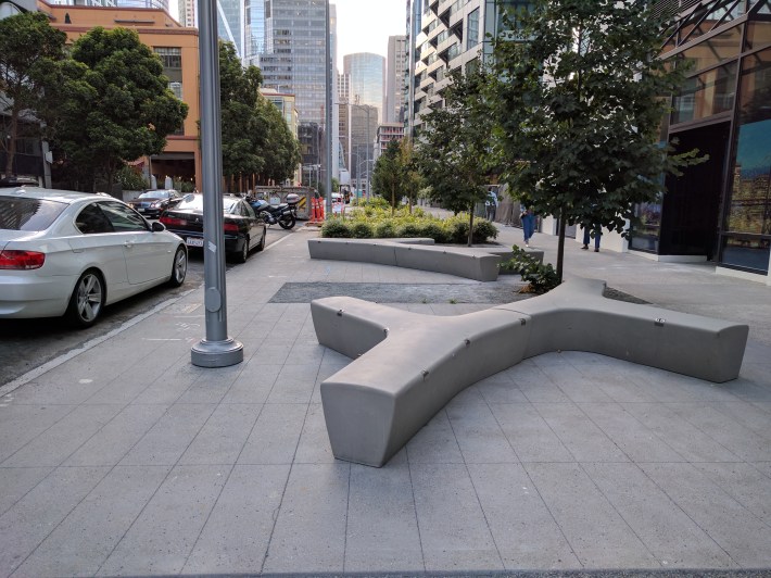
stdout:
[[743,60],[736,161],[722,261],[768,271],[771,241],[771,49]]

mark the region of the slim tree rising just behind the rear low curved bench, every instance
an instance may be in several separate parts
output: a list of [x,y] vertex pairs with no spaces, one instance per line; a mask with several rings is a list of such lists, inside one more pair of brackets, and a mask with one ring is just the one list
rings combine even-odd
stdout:
[[468,246],[473,238],[475,205],[488,198],[492,165],[492,124],[481,70],[451,73],[444,106],[424,116],[415,159],[430,187],[429,199],[455,214],[469,213]]

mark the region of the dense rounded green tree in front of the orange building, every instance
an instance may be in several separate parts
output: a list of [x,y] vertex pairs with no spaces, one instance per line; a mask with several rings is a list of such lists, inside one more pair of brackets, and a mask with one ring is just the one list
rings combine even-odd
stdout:
[[101,179],[110,191],[126,162],[163,151],[188,105],[134,30],[93,28],[75,41],[72,59],[83,65],[81,76],[71,83],[56,143],[91,190]]

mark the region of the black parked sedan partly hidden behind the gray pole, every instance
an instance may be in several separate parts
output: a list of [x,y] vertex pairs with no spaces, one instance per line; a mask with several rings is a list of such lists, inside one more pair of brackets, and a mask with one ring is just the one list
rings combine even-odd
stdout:
[[[250,251],[265,248],[267,225],[242,198],[223,196],[225,252],[239,263]],[[203,247],[203,194],[188,193],[176,208],[161,215],[168,230],[179,235],[188,247]]]

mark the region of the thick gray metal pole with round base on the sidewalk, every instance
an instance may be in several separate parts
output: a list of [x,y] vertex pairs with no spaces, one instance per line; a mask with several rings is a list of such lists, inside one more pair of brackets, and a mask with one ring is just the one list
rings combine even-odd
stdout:
[[203,173],[203,273],[206,337],[192,347],[201,367],[226,367],[243,361],[243,345],[228,337],[225,289],[225,230],[220,175],[219,46],[217,3],[198,0],[201,65],[201,169]]

